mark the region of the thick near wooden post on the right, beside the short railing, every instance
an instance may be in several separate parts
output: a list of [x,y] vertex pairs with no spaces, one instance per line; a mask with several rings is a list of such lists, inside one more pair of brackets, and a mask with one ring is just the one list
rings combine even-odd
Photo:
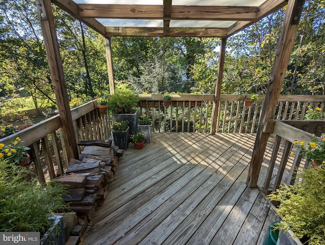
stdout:
[[[276,51],[276,57],[271,70],[268,90],[265,96],[261,120],[259,120],[256,140],[249,165],[247,185],[257,187],[259,171],[261,170],[264,152],[269,138],[269,133],[263,133],[267,119],[273,119],[276,106],[280,97],[282,83],[288,66],[291,50],[295,42],[298,23],[301,17],[304,0],[289,0],[284,18],[283,28]],[[298,21],[297,21],[298,20]]]

